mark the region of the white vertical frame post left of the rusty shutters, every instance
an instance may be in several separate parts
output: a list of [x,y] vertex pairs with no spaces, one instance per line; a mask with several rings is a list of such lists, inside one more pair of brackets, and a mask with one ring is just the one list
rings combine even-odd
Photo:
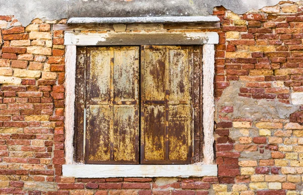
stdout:
[[76,86],[76,46],[67,45],[65,52],[65,161],[73,164],[75,86]]

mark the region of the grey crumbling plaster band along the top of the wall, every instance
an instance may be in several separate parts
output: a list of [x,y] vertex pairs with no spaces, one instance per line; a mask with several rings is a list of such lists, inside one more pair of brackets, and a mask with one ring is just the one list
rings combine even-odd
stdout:
[[[23,26],[33,19],[71,17],[207,16],[224,6],[237,14],[273,6],[280,0],[0,0],[0,15],[14,15]],[[296,2],[296,1],[294,1]]]

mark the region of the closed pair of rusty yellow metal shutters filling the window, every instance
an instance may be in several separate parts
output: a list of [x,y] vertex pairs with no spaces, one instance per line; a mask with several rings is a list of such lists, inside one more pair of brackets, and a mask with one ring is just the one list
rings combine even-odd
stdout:
[[201,57],[201,46],[77,47],[75,161],[201,161]]

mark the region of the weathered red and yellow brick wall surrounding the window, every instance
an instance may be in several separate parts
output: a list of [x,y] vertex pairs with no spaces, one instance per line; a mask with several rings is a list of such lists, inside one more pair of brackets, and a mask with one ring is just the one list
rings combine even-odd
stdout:
[[[26,28],[0,16],[1,194],[300,194],[303,191],[303,5],[236,15],[222,7],[216,31],[218,177],[62,177],[63,31],[66,20],[35,19]],[[302,16],[301,16],[302,15]],[[173,32],[175,29],[157,26]],[[153,29],[155,30],[155,29]],[[140,30],[135,29],[136,32]]]

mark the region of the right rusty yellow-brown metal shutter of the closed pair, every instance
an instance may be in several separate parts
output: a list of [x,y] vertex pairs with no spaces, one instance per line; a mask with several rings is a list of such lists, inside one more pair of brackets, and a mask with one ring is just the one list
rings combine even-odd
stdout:
[[191,46],[141,46],[142,164],[192,162],[193,139],[200,136],[199,73],[193,79],[199,56]]

